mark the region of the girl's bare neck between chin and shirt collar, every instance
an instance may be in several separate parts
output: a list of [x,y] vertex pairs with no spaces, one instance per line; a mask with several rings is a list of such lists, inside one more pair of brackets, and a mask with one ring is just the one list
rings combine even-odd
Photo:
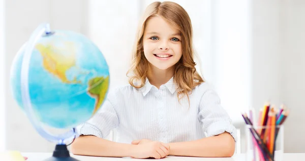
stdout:
[[151,85],[156,86],[158,89],[160,88],[161,85],[164,85],[169,81],[171,77],[174,75],[174,66],[162,70],[154,67],[153,65],[148,65],[148,73],[147,73],[147,78],[149,80],[149,83]]

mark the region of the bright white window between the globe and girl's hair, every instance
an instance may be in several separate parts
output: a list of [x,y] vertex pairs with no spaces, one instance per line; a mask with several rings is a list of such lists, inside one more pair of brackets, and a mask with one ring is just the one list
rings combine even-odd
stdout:
[[88,37],[99,47],[108,63],[110,90],[128,81],[126,72],[131,62],[139,2],[89,2]]

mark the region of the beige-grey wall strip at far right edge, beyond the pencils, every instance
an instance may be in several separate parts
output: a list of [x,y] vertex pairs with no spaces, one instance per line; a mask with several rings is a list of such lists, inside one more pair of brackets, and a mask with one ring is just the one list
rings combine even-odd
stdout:
[[285,151],[305,152],[305,1],[283,1],[280,17],[281,100],[291,108],[285,124]]

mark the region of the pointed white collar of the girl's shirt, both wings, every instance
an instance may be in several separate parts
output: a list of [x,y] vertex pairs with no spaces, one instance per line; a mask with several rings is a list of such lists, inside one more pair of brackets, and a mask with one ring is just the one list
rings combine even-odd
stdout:
[[[145,96],[153,87],[155,86],[151,85],[146,77],[145,85],[141,88],[143,96]],[[167,88],[171,94],[175,93],[177,87],[174,83],[174,77],[171,77],[166,84],[160,86],[160,89],[163,88]]]

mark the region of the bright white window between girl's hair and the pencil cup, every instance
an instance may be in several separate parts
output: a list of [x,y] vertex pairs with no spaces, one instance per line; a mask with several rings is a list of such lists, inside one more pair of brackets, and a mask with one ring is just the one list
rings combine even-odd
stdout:
[[[251,3],[212,1],[211,81],[233,122],[251,105]],[[202,57],[204,59],[204,57]]]

